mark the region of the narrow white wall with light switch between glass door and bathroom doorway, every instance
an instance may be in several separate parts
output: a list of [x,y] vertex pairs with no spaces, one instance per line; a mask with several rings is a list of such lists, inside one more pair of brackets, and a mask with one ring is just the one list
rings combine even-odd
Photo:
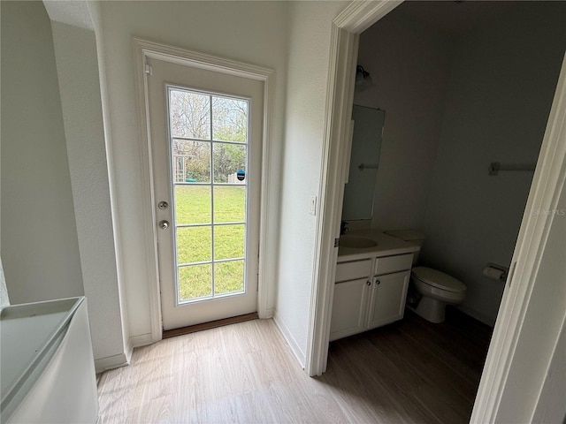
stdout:
[[316,196],[325,126],[332,19],[342,2],[291,2],[287,114],[280,192],[276,322],[304,365],[313,283]]

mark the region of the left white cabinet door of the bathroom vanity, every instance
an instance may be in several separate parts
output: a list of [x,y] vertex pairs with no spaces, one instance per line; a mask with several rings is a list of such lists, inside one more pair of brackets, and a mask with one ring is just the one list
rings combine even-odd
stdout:
[[330,340],[351,336],[365,330],[369,278],[334,284]]

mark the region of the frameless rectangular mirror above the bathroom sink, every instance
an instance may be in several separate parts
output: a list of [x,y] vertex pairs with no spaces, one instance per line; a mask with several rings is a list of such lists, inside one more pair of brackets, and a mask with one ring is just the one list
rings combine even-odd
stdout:
[[342,208],[342,219],[345,221],[371,219],[373,214],[373,192],[378,176],[386,112],[355,104],[352,119],[354,137]]

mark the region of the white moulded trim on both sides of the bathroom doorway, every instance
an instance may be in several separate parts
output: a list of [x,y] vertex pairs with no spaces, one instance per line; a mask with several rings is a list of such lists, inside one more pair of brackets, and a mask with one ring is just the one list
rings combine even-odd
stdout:
[[[393,11],[402,2],[353,2],[333,20],[325,111],[325,140],[322,157],[319,196],[321,210],[317,219],[317,246],[314,284],[311,295],[306,371],[309,375],[325,372],[328,359],[328,336],[333,302],[333,280],[338,249],[334,239],[340,235],[343,170],[348,155],[342,151],[346,142],[354,94],[359,34]],[[555,210],[566,179],[566,58],[548,117],[547,130],[532,180],[532,189],[524,211],[523,223],[516,242],[512,272],[503,293],[500,312],[493,330],[472,422],[493,422],[516,353],[518,338],[539,263],[544,253],[553,216],[533,214],[534,208]],[[514,269],[514,272],[513,272]],[[564,311],[556,315],[566,314]]]

